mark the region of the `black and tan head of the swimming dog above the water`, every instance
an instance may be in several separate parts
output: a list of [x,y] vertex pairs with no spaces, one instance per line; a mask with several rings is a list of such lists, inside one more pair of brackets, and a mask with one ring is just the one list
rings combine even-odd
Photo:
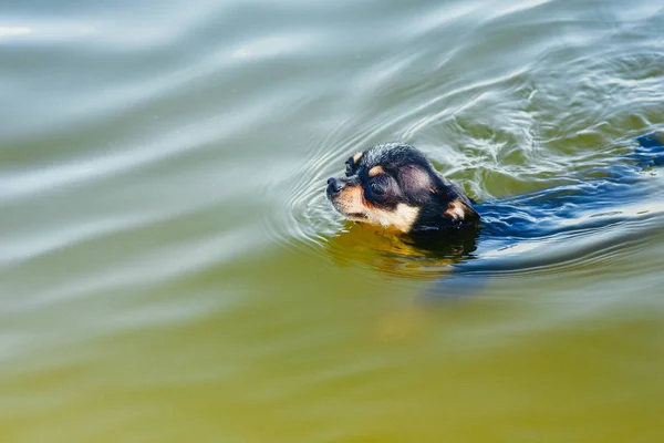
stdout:
[[463,189],[413,146],[375,145],[345,165],[345,177],[328,179],[326,194],[351,220],[402,233],[459,229],[479,222]]

